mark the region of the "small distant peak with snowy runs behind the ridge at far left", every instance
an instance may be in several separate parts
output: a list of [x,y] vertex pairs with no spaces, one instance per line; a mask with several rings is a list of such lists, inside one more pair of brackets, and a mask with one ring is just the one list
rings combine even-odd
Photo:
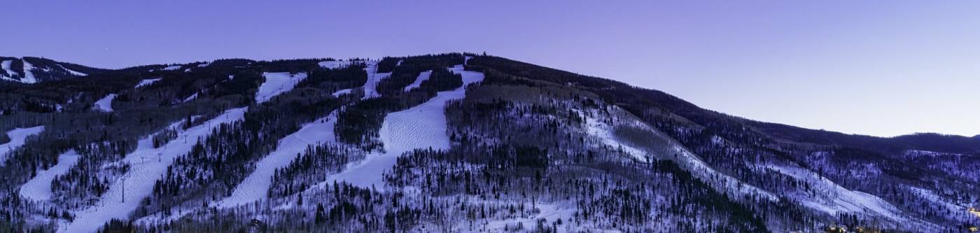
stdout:
[[0,80],[21,83],[73,78],[105,71],[33,57],[0,57],[0,66]]

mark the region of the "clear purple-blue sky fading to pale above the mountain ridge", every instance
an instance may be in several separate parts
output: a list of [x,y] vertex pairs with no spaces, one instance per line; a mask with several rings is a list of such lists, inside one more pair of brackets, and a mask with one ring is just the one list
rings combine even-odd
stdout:
[[980,1],[5,1],[0,56],[118,69],[487,52],[845,133],[980,134]]

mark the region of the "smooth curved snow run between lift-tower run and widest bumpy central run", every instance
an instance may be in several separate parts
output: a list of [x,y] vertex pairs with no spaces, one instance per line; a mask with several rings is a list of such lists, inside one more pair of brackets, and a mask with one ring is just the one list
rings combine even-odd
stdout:
[[230,197],[221,201],[221,207],[235,207],[268,198],[271,178],[276,168],[281,168],[304,153],[308,146],[323,142],[335,142],[333,126],[337,123],[336,112],[304,124],[300,130],[279,139],[275,151],[256,163],[255,171],[245,177]]

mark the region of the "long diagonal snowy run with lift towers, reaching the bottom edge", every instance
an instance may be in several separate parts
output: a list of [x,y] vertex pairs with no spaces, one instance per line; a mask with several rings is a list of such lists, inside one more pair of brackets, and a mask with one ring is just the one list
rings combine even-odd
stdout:
[[[153,148],[153,137],[139,140],[136,150],[123,158],[123,163],[131,166],[121,179],[111,181],[109,190],[99,198],[95,206],[74,211],[75,218],[68,226],[58,232],[94,232],[106,221],[113,218],[127,219],[129,214],[140,207],[140,201],[153,192],[154,183],[167,172],[167,167],[179,156],[190,152],[197,140],[208,137],[212,129],[221,123],[239,120],[245,108],[225,111],[200,125],[180,131],[177,138],[164,147]],[[186,140],[185,140],[186,139]],[[123,203],[123,187],[125,202]]]

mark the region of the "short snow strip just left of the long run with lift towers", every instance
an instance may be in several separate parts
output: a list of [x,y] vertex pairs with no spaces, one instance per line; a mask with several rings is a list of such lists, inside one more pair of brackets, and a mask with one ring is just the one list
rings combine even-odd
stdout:
[[46,170],[38,171],[24,186],[21,187],[21,197],[34,201],[51,200],[51,181],[55,176],[64,175],[78,163],[78,154],[70,150],[58,156],[58,163]]

